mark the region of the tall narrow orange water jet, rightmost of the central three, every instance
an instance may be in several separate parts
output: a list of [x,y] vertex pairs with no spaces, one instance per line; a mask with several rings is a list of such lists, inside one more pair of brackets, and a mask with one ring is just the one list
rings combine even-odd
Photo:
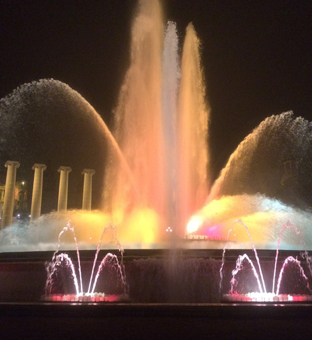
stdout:
[[[179,225],[204,205],[208,195],[208,115],[206,89],[194,26],[186,28],[179,90]],[[182,232],[184,232],[184,229]]]

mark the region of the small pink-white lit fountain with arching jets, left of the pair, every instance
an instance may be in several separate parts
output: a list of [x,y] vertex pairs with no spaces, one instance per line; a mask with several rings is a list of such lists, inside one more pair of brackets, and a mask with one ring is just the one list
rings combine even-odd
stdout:
[[[72,259],[68,256],[68,254],[59,253],[61,239],[65,232],[70,232],[74,238],[74,244],[76,246],[77,252],[79,279],[77,279]],[[108,234],[108,232],[113,234],[113,242],[116,242],[119,248],[118,250],[121,253],[121,263],[118,262],[118,257],[116,255],[107,253],[99,264],[99,268],[94,277],[96,260],[98,259],[99,251],[101,250],[103,237],[105,234]],[[48,273],[48,278],[45,283],[45,295],[42,297],[44,301],[112,302],[121,299],[125,300],[127,298],[126,274],[123,265],[123,248],[116,238],[116,227],[113,227],[112,225],[105,227],[103,233],[101,234],[101,239],[99,240],[99,244],[96,248],[96,254],[94,256],[94,263],[89,280],[89,288],[86,293],[84,292],[82,283],[82,264],[80,261],[77,238],[74,233],[74,227],[72,227],[70,222],[67,223],[67,226],[62,229],[62,232],[60,232],[58,236],[57,249],[52,256],[52,261],[46,263],[46,271]],[[99,286],[98,280],[102,271],[105,271],[105,276],[108,276],[110,280],[113,280],[113,290],[114,293],[118,292],[118,295],[94,292],[95,288]],[[66,281],[67,284],[65,284]],[[112,289],[112,287],[108,289]]]

